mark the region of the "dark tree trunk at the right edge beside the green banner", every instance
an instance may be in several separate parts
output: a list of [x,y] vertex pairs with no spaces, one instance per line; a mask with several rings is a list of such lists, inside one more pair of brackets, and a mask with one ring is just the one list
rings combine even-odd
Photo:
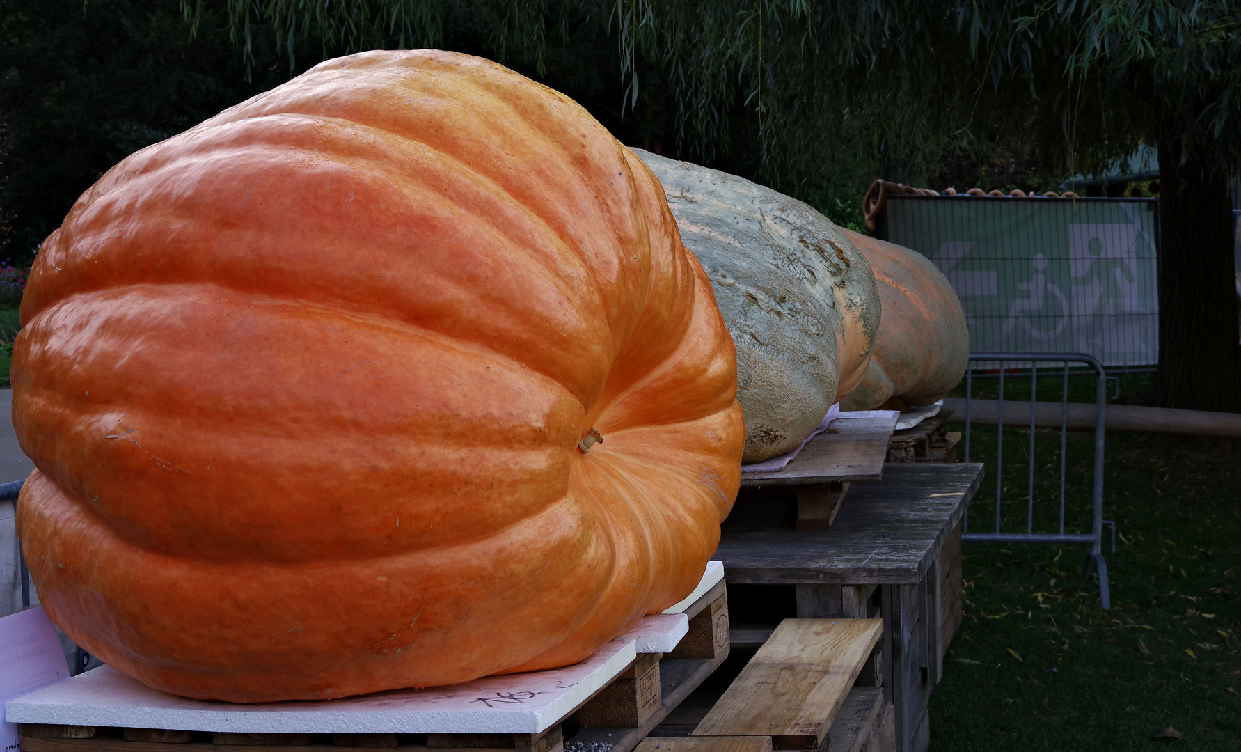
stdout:
[[1241,412],[1241,346],[1227,176],[1175,138],[1159,143],[1162,407]]

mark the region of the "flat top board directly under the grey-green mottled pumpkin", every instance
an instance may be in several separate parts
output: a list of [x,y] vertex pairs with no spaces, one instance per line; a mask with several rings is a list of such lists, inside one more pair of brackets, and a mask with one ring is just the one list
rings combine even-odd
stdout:
[[741,472],[742,486],[804,485],[858,480],[879,480],[884,477],[887,442],[892,438],[900,413],[870,411],[851,417],[841,413],[828,429],[807,442],[805,447],[781,470],[768,473]]

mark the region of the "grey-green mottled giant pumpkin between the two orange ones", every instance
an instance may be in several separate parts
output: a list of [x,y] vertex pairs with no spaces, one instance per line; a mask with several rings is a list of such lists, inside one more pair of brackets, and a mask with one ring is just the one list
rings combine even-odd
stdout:
[[664,184],[737,347],[752,463],[800,443],[861,378],[879,330],[870,264],[810,206],[736,175],[633,150]]

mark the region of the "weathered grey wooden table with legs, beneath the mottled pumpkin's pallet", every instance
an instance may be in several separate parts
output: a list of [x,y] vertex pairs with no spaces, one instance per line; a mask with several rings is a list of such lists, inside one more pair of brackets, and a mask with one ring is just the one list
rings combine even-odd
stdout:
[[927,701],[961,620],[961,520],[982,477],[980,464],[889,464],[881,481],[853,488],[830,529],[814,531],[795,529],[793,493],[742,489],[715,556],[733,648],[789,615],[881,615],[874,670],[896,709],[897,750],[927,750]]

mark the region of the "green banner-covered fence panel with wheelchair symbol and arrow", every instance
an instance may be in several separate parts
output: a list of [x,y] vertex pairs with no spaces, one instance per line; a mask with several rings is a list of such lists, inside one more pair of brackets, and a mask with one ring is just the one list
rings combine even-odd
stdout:
[[961,298],[970,350],[1158,362],[1154,199],[891,195],[884,237]]

